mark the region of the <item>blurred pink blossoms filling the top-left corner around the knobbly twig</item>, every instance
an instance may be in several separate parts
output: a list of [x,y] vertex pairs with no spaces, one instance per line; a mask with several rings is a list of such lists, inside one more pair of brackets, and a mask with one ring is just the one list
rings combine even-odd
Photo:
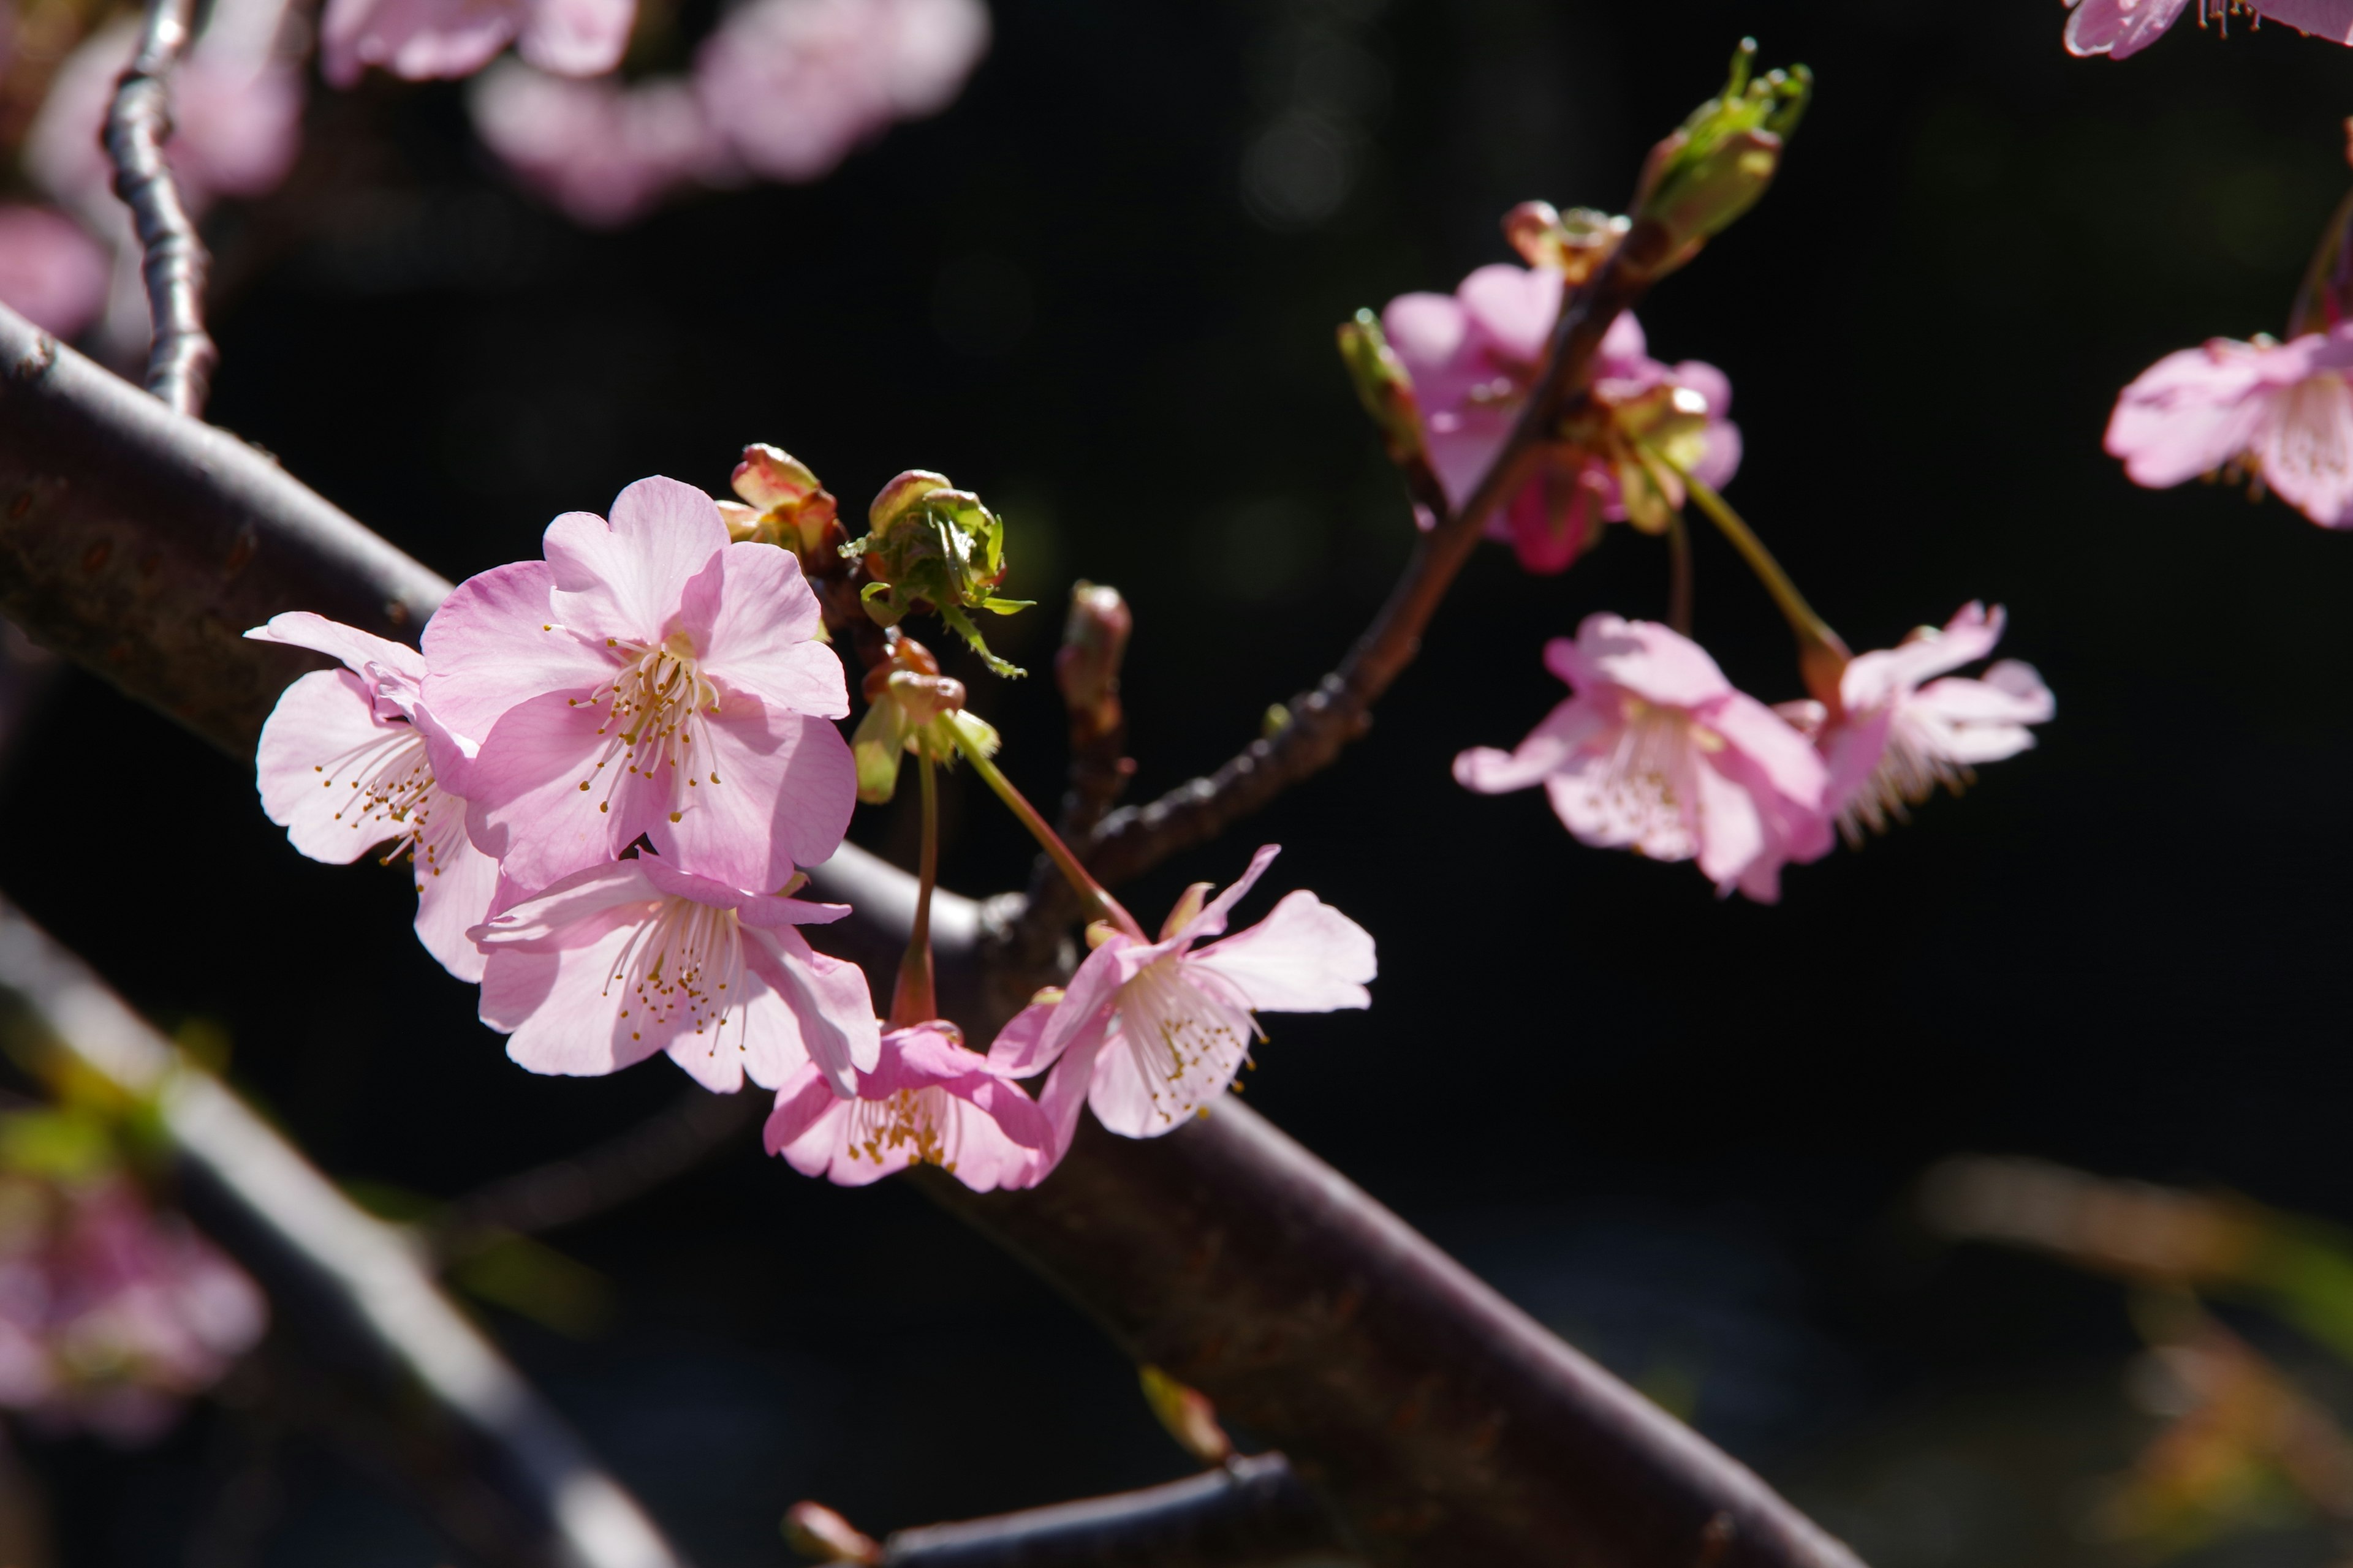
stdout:
[[[892,122],[939,113],[988,49],[981,0],[746,0],[689,78],[612,75],[638,0],[329,0],[320,71],[353,87],[482,73],[475,132],[513,176],[581,223],[626,223],[675,190],[812,181]],[[146,348],[141,249],[101,143],[132,19],[85,38],[47,82],[24,172],[49,205],[0,205],[0,301],[101,350]],[[0,28],[0,71],[12,31]],[[499,59],[513,45],[520,59]],[[165,155],[181,200],[275,190],[301,146],[308,26],[282,0],[219,0],[172,78]],[[485,66],[489,71],[485,71]]]

